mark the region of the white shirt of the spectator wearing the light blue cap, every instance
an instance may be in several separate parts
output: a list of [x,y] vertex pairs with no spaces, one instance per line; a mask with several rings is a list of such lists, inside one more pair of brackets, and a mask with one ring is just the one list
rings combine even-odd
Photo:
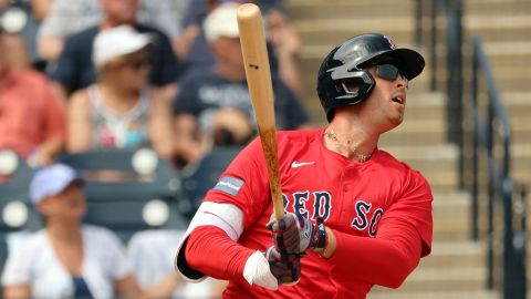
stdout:
[[[122,241],[111,230],[84,225],[83,279],[94,298],[114,298],[113,283],[131,274]],[[30,283],[33,298],[62,298],[73,293],[71,275],[56,258],[45,230],[10,248],[2,286]]]

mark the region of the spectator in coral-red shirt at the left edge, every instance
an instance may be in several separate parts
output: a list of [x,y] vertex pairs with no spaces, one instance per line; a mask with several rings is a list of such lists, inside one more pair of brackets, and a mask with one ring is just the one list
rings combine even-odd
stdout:
[[48,165],[64,145],[64,109],[44,75],[13,70],[11,35],[0,28],[0,148],[13,150],[33,166]]

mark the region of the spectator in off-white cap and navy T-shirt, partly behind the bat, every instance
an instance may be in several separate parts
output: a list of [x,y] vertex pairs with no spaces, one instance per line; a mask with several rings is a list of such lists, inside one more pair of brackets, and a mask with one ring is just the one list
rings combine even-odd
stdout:
[[[174,101],[174,113],[177,159],[181,159],[183,164],[197,161],[208,152],[212,132],[235,134],[229,126],[212,126],[218,112],[227,109],[239,111],[232,113],[233,122],[249,126],[254,123],[238,33],[237,8],[237,3],[225,3],[205,19],[205,34],[216,63],[187,72],[179,83],[183,89]],[[272,81],[277,125],[285,130],[305,125],[308,115],[299,100],[274,75]]]

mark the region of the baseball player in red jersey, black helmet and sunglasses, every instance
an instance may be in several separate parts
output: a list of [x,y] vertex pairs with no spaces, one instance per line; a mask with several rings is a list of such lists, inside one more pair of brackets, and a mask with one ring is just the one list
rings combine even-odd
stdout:
[[[397,288],[430,252],[427,181],[378,148],[404,118],[423,56],[386,35],[335,47],[317,75],[326,127],[279,132],[285,216],[273,213],[260,140],[209,190],[176,268],[188,280],[229,280],[223,298],[365,298]],[[289,283],[298,281],[298,283]]]

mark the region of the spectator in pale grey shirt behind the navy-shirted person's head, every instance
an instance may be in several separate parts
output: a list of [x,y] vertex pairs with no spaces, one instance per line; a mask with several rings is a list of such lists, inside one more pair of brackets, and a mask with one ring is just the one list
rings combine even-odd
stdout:
[[[40,0],[43,1],[43,0]],[[189,0],[142,0],[136,17],[145,23],[162,30],[175,47],[180,34],[180,18]],[[40,55],[54,61],[63,50],[64,40],[70,35],[96,25],[103,19],[98,0],[53,0],[48,18],[38,32]]]

